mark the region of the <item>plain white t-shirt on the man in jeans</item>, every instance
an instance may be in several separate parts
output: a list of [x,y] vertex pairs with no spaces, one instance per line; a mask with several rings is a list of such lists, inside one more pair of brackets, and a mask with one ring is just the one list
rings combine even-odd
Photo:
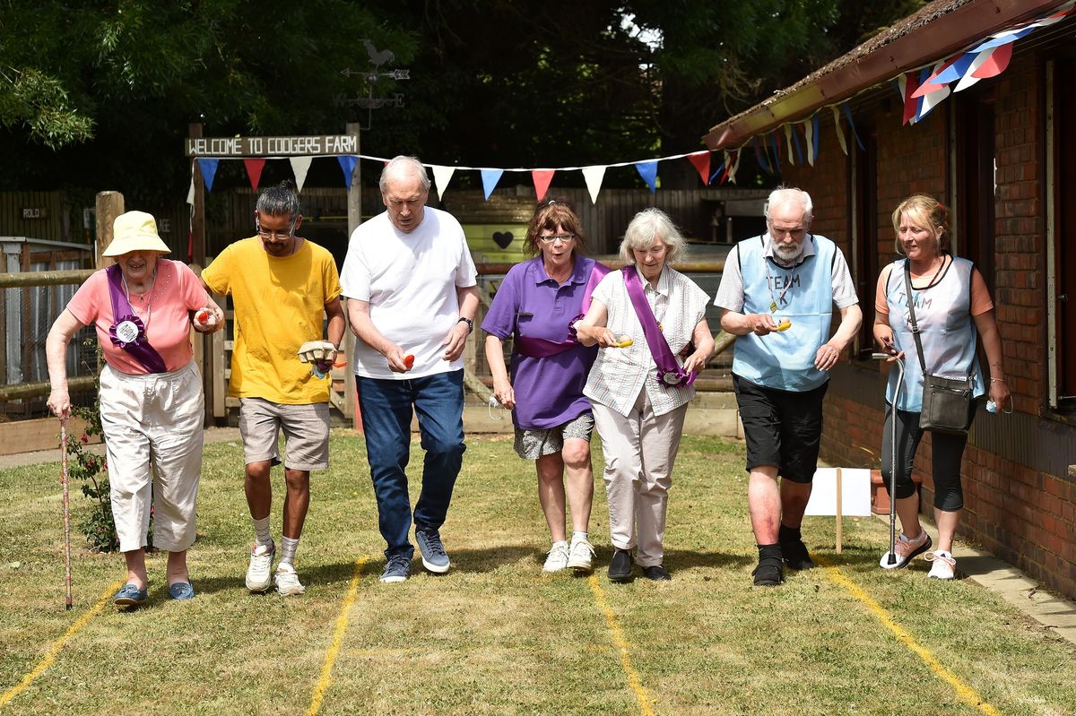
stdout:
[[473,286],[476,274],[463,227],[447,212],[424,207],[411,233],[393,226],[387,212],[359,225],[340,272],[343,295],[369,301],[373,325],[414,355],[414,367],[394,373],[384,356],[356,341],[355,374],[404,381],[462,369],[463,357],[442,358],[443,342],[459,320],[456,288]]

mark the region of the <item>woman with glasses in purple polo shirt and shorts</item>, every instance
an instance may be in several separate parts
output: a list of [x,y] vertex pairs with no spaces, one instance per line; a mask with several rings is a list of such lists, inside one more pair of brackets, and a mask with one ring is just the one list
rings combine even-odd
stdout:
[[[515,452],[535,460],[538,501],[553,546],[546,572],[594,570],[587,539],[594,471],[594,417],[583,397],[597,348],[576,342],[570,328],[585,313],[590,293],[608,269],[582,256],[586,238],[579,217],[560,199],[538,204],[527,227],[526,250],[535,258],[513,266],[482,321],[494,396],[512,411]],[[502,343],[512,336],[511,375]],[[565,473],[571,507],[571,542],[565,530]]]

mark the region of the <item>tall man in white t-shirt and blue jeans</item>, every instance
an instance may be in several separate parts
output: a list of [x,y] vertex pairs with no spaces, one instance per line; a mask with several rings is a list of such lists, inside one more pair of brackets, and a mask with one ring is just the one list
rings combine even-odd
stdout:
[[382,582],[404,582],[414,547],[407,473],[411,417],[426,458],[414,505],[422,563],[449,571],[441,543],[452,488],[463,464],[463,352],[478,309],[475,262],[463,227],[426,206],[429,177],[414,157],[399,156],[381,172],[387,211],[351,235],[340,284],[358,336],[354,370],[366,453],[387,543]]

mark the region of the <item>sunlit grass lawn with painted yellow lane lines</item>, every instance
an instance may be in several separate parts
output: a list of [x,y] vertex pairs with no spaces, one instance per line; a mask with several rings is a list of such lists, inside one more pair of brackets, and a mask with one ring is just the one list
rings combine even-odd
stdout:
[[[452,571],[433,576],[415,562],[397,585],[378,583],[384,545],[362,439],[334,431],[331,455],[331,469],[314,474],[299,546],[305,596],[243,586],[242,449],[218,443],[206,448],[190,550],[197,599],[166,598],[155,555],[146,607],[118,613],[109,602],[58,649],[124,576],[122,557],[89,554],[73,534],[75,607],[66,612],[58,463],[0,471],[0,713],[1076,713],[1070,644],[974,584],[929,581],[921,561],[883,572],[878,520],[846,518],[837,555],[833,519],[808,518],[805,541],[831,567],[751,588],[756,553],[735,442],[684,439],[666,533],[672,582],[628,585],[604,574],[599,450],[596,576],[542,575],[534,467],[507,438],[476,436],[441,531]],[[279,469],[274,488],[279,535]],[[74,486],[72,524],[87,504]]]

